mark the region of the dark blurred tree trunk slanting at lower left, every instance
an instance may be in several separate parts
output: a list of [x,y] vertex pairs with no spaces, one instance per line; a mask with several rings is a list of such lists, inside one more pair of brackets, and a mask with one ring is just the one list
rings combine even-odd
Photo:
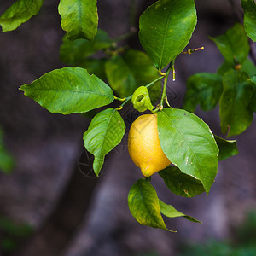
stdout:
[[[90,172],[90,163],[85,170]],[[65,250],[90,207],[99,178],[85,177],[77,166],[55,209],[42,227],[19,249],[17,256],[56,256]]]

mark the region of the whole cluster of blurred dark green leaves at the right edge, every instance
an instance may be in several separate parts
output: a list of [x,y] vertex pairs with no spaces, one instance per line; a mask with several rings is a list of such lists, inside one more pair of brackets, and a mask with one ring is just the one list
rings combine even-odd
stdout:
[[245,131],[253,121],[256,67],[248,59],[250,47],[240,23],[212,40],[224,56],[224,63],[217,73],[196,73],[189,78],[183,108],[194,112],[200,104],[207,111],[219,102],[221,131],[230,137]]

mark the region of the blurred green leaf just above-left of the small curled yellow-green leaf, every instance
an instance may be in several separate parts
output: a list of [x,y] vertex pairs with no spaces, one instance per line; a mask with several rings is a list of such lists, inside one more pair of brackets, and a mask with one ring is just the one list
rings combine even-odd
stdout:
[[130,96],[137,88],[136,79],[120,55],[113,55],[105,64],[111,88],[120,96]]

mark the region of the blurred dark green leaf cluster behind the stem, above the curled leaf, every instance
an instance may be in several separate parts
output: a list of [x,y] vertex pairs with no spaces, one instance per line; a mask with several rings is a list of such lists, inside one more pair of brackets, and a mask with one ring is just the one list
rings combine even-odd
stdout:
[[[111,39],[108,33],[98,29],[92,41],[79,38],[74,41],[63,38],[61,61],[73,67],[82,67],[102,80],[120,97],[130,96],[137,84],[148,84],[159,78],[158,71],[143,51],[118,49],[119,38]],[[96,58],[95,55],[101,55]],[[150,92],[155,99],[160,82]]]

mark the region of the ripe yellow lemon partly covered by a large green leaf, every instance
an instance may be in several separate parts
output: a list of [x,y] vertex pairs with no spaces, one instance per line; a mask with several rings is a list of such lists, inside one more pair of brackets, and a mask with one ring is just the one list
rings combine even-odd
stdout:
[[131,160],[141,168],[145,177],[171,164],[160,147],[156,114],[143,114],[132,123],[128,135],[128,151]]

